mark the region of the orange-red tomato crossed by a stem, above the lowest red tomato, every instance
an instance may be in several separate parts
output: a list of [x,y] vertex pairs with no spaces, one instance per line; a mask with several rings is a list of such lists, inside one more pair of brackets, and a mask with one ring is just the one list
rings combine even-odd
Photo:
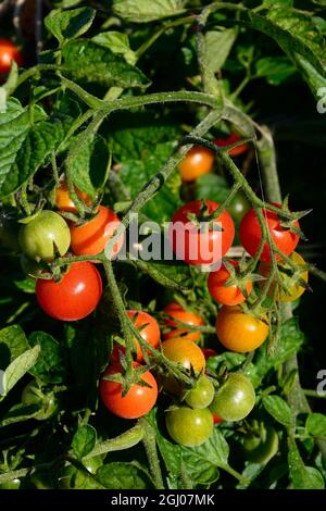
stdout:
[[[139,331],[139,334],[153,348],[158,348],[160,344],[160,327],[156,320],[143,311],[126,311],[127,315],[130,320],[133,320],[135,327]],[[135,338],[134,342],[136,345],[136,361],[142,362],[143,354],[140,348],[139,341]],[[112,363],[116,363],[120,361],[120,352],[125,353],[124,346],[116,344],[111,353],[111,361]],[[150,352],[148,352],[150,353]]]

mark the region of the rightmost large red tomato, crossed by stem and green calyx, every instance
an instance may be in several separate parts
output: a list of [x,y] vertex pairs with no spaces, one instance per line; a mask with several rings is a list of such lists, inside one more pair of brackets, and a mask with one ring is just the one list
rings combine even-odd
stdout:
[[[273,205],[280,208],[280,204],[278,203],[273,203]],[[299,236],[291,233],[288,228],[281,227],[279,217],[276,213],[263,210],[263,214],[273,241],[285,256],[290,256],[299,242]],[[296,221],[293,226],[299,228],[299,222]],[[243,248],[250,253],[250,256],[254,256],[262,238],[262,229],[254,209],[251,209],[243,216],[240,223],[239,235]],[[278,261],[280,260],[278,254],[275,254],[275,257]],[[267,242],[264,244],[260,260],[271,260],[271,251]]]

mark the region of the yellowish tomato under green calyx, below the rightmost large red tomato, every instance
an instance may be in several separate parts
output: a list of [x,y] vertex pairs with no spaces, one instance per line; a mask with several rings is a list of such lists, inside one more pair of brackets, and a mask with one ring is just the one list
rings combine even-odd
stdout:
[[[304,259],[298,252],[292,252],[290,256],[290,259],[293,261],[293,263],[298,264],[298,266],[305,265]],[[290,272],[290,266],[288,266],[283,261],[278,263],[278,269],[279,269],[279,276],[283,283],[287,286],[288,291],[283,289],[275,282],[273,282],[267,292],[268,297],[273,298],[274,300],[281,301],[281,302],[298,300],[298,298],[301,297],[301,295],[305,290],[304,287],[301,286],[298,281],[299,278],[301,278],[303,282],[308,283],[308,271],[304,270],[302,273],[300,273],[299,276],[287,274],[286,272]],[[264,277],[267,277],[269,271],[271,271],[271,263],[267,261],[262,261],[259,266],[259,273],[263,275]],[[264,281],[261,281],[260,285],[261,287],[263,287]]]

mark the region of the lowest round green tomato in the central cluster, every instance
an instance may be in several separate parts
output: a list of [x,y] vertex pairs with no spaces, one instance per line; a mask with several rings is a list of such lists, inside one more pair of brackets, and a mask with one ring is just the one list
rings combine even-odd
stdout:
[[179,407],[165,413],[166,429],[180,446],[196,447],[206,441],[213,432],[213,417],[208,408]]

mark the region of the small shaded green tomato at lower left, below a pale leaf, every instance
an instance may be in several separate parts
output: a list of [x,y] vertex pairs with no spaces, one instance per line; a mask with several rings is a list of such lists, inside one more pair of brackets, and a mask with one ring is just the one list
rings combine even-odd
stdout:
[[37,404],[40,410],[35,415],[38,421],[46,421],[59,411],[59,400],[54,392],[43,392],[35,381],[29,382],[23,390],[22,402],[24,404]]

